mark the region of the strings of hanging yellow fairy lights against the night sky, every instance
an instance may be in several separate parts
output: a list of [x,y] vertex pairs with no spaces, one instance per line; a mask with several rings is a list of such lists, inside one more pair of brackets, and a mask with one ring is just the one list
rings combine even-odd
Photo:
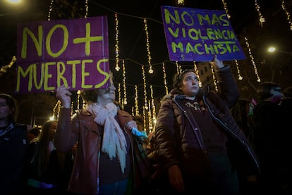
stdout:
[[[226,0],[221,0],[223,5],[224,5],[224,10],[226,12],[226,16],[228,18],[231,18],[231,16],[229,15],[229,10],[228,10],[228,7],[227,7],[227,4]],[[177,1],[179,5],[183,5],[185,4],[185,1],[183,0],[178,0]],[[53,9],[53,5],[55,4],[55,1],[54,0],[51,0],[51,3],[50,3],[50,6],[49,6],[49,13],[48,13],[48,20],[51,20],[51,12],[52,12],[52,9]],[[287,17],[287,20],[288,20],[288,23],[290,25],[290,30],[292,30],[292,22],[291,22],[291,16],[290,14],[288,13],[287,9],[286,9],[286,3],[284,0],[281,0],[281,8],[283,9],[283,11],[286,13],[286,17]],[[255,0],[255,9],[257,10],[257,13],[258,13],[258,16],[259,16],[259,19],[260,19],[260,23],[261,25],[264,23],[264,17],[262,16],[262,13],[260,12],[260,5],[257,4],[257,0]],[[85,18],[87,18],[88,16],[88,0],[85,0]],[[115,25],[116,25],[116,28],[115,28],[115,38],[116,38],[116,45],[115,45],[115,52],[116,52],[116,71],[119,71],[120,69],[123,69],[123,88],[121,88],[121,84],[118,83],[118,100],[119,102],[121,102],[121,104],[127,104],[127,95],[126,95],[126,71],[125,71],[125,66],[124,66],[124,61],[123,61],[123,66],[120,67],[119,64],[121,64],[121,59],[120,59],[120,55],[119,55],[119,47],[118,47],[118,44],[119,44],[119,39],[118,39],[118,35],[119,35],[119,31],[118,31],[118,13],[115,13],[114,14],[115,16]],[[148,72],[149,73],[153,73],[153,69],[152,69],[152,57],[151,57],[151,53],[150,53],[150,37],[149,37],[149,31],[148,31],[148,26],[147,26],[147,20],[146,18],[142,18],[144,19],[144,23],[145,23],[145,34],[146,34],[146,46],[147,46],[147,62],[148,62],[148,65],[149,65],[149,69],[148,69]],[[151,29],[150,29],[151,30]],[[248,47],[248,51],[249,51],[249,55],[250,55],[250,59],[253,63],[253,69],[255,71],[255,75],[257,76],[257,82],[260,82],[260,76],[258,75],[257,73],[257,66],[255,65],[255,61],[254,61],[254,58],[253,58],[253,55],[251,53],[251,50],[250,50],[250,47],[249,47],[249,44],[248,44],[248,40],[247,38],[245,38],[245,43]],[[194,63],[194,69],[195,69],[195,72],[197,73],[197,76],[199,78],[199,81],[200,81],[200,75],[199,75],[199,71],[197,69],[197,64],[195,64],[195,61],[193,61]],[[240,71],[240,67],[239,67],[239,64],[238,64],[238,61],[235,60],[235,63],[236,63],[236,69],[237,69],[237,73],[238,73],[238,80],[242,80],[243,77],[241,76],[241,71]],[[155,107],[154,107],[154,98],[153,98],[153,89],[152,89],[152,85],[150,85],[150,90],[151,90],[151,101],[149,102],[147,100],[147,89],[146,87],[148,86],[146,84],[146,81],[145,81],[145,66],[142,66],[142,78],[143,78],[143,87],[144,87],[144,98],[145,98],[145,105],[143,107],[143,112],[145,112],[145,110],[148,110],[148,115],[149,116],[153,116],[152,117],[152,120],[154,121],[155,120]],[[165,87],[165,90],[166,90],[166,94],[169,93],[169,89],[167,87],[167,82],[166,82],[166,69],[165,69],[165,64],[162,63],[162,68],[163,68],[163,73],[164,73],[164,87]],[[214,85],[215,85],[215,89],[217,90],[217,81],[216,81],[216,76],[214,75],[214,69],[213,67],[211,67],[212,69],[212,76],[213,76],[213,79],[214,79]],[[147,71],[147,69],[146,69]],[[176,61],[176,72],[177,73],[181,73],[181,65],[178,64],[178,61]],[[199,83],[200,87],[202,86],[202,82],[200,81]],[[140,86],[140,85],[139,85]],[[124,92],[124,99],[122,100],[122,97],[121,97],[121,90],[123,90]],[[80,91],[77,92],[78,94],[78,100],[77,100],[77,107],[79,109],[79,102],[80,102]],[[72,105],[73,106],[73,105]],[[85,106],[85,102],[83,102],[83,106]],[[140,105],[141,106],[141,105]],[[141,108],[141,107],[140,107]],[[150,112],[150,110],[152,112]],[[135,107],[132,107],[132,112],[135,112],[135,114],[139,114],[139,104],[138,104],[138,86],[135,85]],[[147,114],[145,113],[145,114]],[[151,114],[152,113],[152,114]],[[144,116],[145,116],[144,114]],[[144,117],[145,118],[145,117]],[[151,118],[151,117],[149,117]]]

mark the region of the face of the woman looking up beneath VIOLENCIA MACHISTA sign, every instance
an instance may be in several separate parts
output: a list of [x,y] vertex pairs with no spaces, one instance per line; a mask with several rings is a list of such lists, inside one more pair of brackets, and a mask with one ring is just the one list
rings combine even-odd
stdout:
[[183,74],[180,90],[183,92],[183,95],[188,97],[197,95],[199,92],[199,81],[194,72],[187,72]]

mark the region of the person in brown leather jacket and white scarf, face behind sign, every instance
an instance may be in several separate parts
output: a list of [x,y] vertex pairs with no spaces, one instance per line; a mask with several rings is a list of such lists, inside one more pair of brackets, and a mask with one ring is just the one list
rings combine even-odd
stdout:
[[[75,194],[147,194],[142,189],[150,165],[142,159],[131,130],[133,117],[114,103],[116,88],[109,73],[107,88],[83,90],[86,103],[71,119],[70,87],[61,85],[56,97],[61,100],[56,148],[71,150],[78,141],[73,173],[68,191]],[[137,158],[139,156],[139,158]],[[145,159],[147,160],[147,159]],[[142,167],[141,167],[142,166]],[[139,167],[139,169],[138,169]]]

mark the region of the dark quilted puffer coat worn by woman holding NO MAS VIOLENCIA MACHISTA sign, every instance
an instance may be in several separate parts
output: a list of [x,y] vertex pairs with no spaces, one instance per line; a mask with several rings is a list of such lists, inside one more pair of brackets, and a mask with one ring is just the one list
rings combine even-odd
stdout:
[[[237,167],[242,164],[249,173],[258,172],[259,162],[243,131],[239,129],[229,109],[238,100],[238,88],[228,66],[217,69],[219,93],[207,91],[202,100],[213,121],[229,136],[229,155]],[[212,169],[196,119],[183,106],[184,95],[173,94],[164,98],[157,116],[155,136],[159,158],[164,170],[178,164],[183,174],[202,180],[212,179]],[[247,173],[248,174],[248,173]]]

